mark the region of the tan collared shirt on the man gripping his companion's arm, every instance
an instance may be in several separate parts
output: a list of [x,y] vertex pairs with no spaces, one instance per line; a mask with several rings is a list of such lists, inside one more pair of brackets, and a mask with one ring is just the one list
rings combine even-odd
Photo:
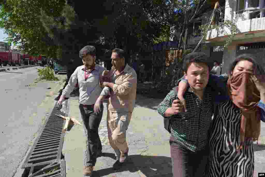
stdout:
[[[110,112],[133,112],[136,99],[137,75],[135,70],[126,64],[124,70],[115,75],[116,70],[112,67],[113,94],[108,101]],[[109,87],[104,87],[100,95],[107,96]]]

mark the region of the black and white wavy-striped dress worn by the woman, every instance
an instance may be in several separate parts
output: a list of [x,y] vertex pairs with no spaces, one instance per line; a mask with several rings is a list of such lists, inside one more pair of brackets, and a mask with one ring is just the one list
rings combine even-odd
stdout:
[[253,141],[240,145],[241,111],[231,100],[219,104],[213,119],[209,161],[205,177],[252,177],[254,171]]

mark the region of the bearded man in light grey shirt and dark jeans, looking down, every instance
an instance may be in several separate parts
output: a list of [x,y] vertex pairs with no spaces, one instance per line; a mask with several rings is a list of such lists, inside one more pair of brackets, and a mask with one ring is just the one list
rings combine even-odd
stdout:
[[86,176],[92,175],[98,152],[101,153],[102,151],[98,128],[102,119],[103,104],[99,105],[101,109],[98,113],[94,112],[94,104],[102,91],[100,77],[106,69],[95,63],[95,54],[94,46],[87,45],[80,50],[79,57],[82,58],[84,65],[76,68],[58,101],[58,105],[61,105],[64,98],[70,96],[78,82],[80,92],[79,109],[87,135],[86,164],[83,168],[83,175]]

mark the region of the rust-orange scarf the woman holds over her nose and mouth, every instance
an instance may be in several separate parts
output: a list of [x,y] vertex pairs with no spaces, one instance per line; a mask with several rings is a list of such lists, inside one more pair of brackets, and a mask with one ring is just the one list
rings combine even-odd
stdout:
[[241,109],[240,140],[242,149],[245,138],[258,140],[260,135],[261,110],[257,106],[260,93],[251,79],[251,72],[238,72],[227,81],[228,94],[232,102]]

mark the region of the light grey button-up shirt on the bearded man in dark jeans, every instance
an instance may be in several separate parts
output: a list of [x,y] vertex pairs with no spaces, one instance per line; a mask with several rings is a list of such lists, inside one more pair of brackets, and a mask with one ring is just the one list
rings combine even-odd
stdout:
[[89,77],[85,80],[85,66],[78,66],[74,73],[71,75],[68,85],[64,88],[62,95],[66,97],[70,96],[70,93],[74,90],[74,86],[77,83],[79,85],[79,103],[91,105],[95,104],[98,99],[102,88],[99,85],[100,75],[106,68],[97,65],[95,66],[95,70],[91,72]]

